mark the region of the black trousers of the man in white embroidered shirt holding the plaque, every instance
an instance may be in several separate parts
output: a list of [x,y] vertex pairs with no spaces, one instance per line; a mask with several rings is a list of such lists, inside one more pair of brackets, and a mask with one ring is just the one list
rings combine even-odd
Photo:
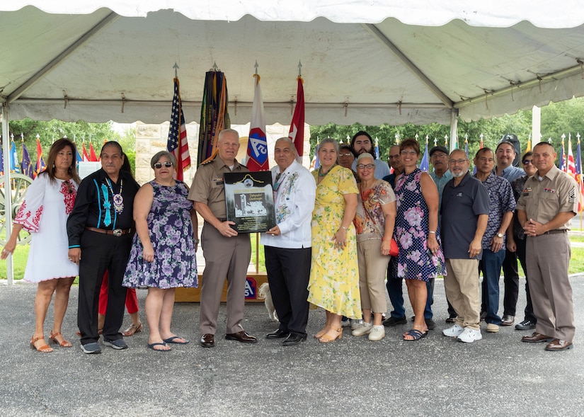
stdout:
[[307,336],[311,248],[264,246],[265,269],[280,330]]

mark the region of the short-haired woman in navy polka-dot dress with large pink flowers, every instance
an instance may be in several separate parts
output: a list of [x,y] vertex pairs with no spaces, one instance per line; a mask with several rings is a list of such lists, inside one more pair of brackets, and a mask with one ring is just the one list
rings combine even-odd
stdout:
[[406,279],[408,295],[416,319],[403,335],[417,341],[428,334],[424,309],[426,282],[444,270],[444,256],[438,231],[438,190],[432,179],[416,166],[420,145],[406,139],[399,145],[403,175],[396,180],[397,217],[395,236],[399,246],[397,276]]

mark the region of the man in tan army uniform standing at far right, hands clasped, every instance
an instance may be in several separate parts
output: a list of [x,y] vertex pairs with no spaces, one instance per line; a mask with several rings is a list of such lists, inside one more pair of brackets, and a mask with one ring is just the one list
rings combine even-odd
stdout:
[[533,148],[537,168],[517,203],[517,219],[527,236],[527,275],[537,326],[527,343],[547,342],[546,350],[573,348],[574,309],[568,279],[571,218],[578,211],[578,185],[555,165],[556,152],[546,142]]

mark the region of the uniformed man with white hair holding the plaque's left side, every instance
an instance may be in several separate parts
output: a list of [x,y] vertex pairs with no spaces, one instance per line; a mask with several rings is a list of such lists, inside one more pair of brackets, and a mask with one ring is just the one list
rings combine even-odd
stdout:
[[236,161],[239,134],[232,129],[219,133],[219,153],[214,159],[197,168],[188,194],[195,210],[205,219],[201,232],[201,245],[205,256],[202,275],[199,329],[200,345],[212,348],[217,331],[217,315],[225,278],[227,277],[227,334],[228,340],[256,343],[241,326],[244,319],[246,275],[251,258],[249,234],[238,234],[227,222],[223,174],[248,172]]

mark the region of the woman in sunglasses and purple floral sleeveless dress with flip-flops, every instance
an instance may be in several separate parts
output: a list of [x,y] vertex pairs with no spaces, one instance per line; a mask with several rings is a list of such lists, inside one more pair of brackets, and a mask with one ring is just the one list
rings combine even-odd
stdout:
[[[161,151],[150,161],[154,181],[142,185],[134,199],[136,236],[123,285],[146,285],[148,347],[171,350],[167,343],[187,340],[171,332],[176,287],[197,287],[197,213],[187,200],[188,187],[173,178],[176,158]],[[194,231],[194,232],[193,232]]]

